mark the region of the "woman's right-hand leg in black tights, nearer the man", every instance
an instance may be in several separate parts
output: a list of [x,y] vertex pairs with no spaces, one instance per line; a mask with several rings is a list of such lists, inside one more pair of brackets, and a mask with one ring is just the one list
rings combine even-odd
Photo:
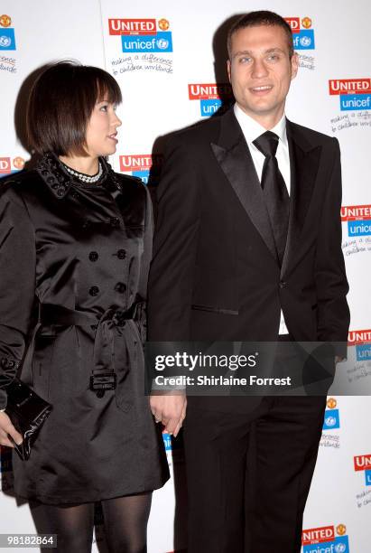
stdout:
[[152,492],[102,501],[110,553],[145,553]]

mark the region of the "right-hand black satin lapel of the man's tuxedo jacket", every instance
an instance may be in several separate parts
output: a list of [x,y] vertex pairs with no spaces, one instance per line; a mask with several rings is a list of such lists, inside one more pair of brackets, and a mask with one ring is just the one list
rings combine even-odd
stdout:
[[320,164],[320,146],[309,151],[302,150],[291,136],[288,137],[291,167],[290,220],[287,245],[283,257],[281,274],[289,267],[295,251],[301,242],[301,230],[311,204],[316,177]]

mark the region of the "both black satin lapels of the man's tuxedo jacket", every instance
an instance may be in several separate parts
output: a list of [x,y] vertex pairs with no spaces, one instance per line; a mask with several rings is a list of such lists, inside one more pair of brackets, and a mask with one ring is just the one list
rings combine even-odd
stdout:
[[[291,197],[289,231],[281,267],[282,275],[287,272],[298,250],[301,230],[305,224],[316,182],[321,151],[320,145],[310,141],[305,128],[287,120],[286,132],[291,164]],[[264,193],[233,108],[220,117],[218,142],[211,143],[211,148],[248,217],[278,263]]]

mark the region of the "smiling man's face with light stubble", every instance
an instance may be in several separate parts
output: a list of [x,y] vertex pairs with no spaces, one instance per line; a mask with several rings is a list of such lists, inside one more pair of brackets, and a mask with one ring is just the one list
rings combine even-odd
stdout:
[[274,126],[298,71],[297,54],[290,60],[284,30],[259,25],[234,33],[227,70],[238,106],[262,125]]

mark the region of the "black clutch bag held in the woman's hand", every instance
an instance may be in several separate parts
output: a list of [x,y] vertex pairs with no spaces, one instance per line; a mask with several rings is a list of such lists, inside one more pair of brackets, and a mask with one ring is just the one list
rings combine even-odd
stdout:
[[31,445],[35,441],[40,428],[51,414],[51,404],[38,396],[31,388],[19,379],[14,379],[6,387],[7,406],[5,413],[11,419],[15,429],[23,436],[21,445],[14,449],[23,461],[31,454]]

